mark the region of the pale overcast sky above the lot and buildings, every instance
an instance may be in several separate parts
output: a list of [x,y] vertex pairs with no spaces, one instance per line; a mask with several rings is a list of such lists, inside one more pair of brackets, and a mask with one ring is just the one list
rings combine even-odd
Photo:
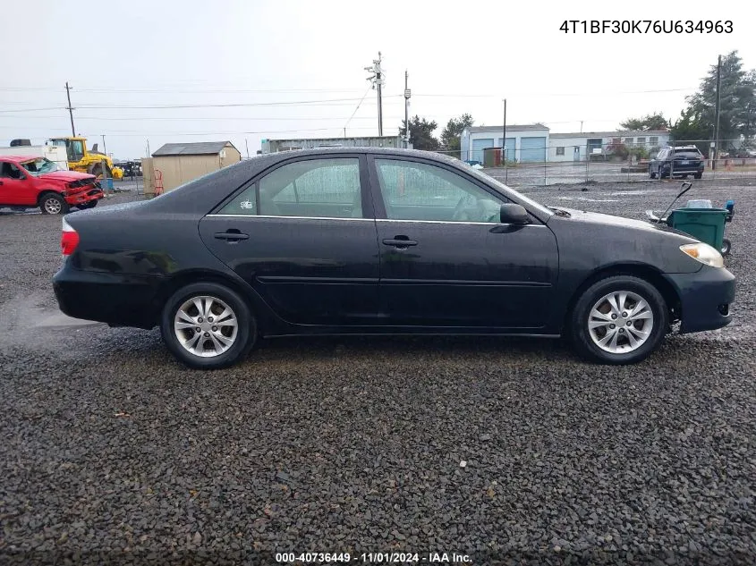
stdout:
[[[0,146],[71,135],[66,81],[77,133],[90,146],[105,136],[119,159],[168,142],[227,139],[253,156],[261,139],[378,135],[364,69],[378,51],[384,135],[403,120],[405,71],[410,114],[436,121],[437,135],[463,113],[500,125],[504,98],[508,124],[613,131],[642,114],[679,116],[718,55],[737,50],[756,68],[749,4],[108,0],[83,13],[59,0],[6,2]],[[559,29],[629,19],[729,20],[733,31]]]

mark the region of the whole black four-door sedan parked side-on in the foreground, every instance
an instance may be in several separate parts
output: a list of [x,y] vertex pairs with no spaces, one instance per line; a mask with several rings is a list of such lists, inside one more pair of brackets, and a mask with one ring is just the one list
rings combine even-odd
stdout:
[[730,322],[718,250],[549,208],[463,162],[331,148],[258,156],[148,201],[64,217],[64,313],[159,325],[191,367],[292,334],[568,336],[630,363]]

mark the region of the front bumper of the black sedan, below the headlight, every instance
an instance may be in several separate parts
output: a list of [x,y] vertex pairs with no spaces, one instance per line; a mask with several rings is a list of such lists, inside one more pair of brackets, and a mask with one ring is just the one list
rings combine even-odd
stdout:
[[680,296],[680,334],[715,330],[733,320],[735,275],[724,268],[703,266],[692,274],[667,274]]

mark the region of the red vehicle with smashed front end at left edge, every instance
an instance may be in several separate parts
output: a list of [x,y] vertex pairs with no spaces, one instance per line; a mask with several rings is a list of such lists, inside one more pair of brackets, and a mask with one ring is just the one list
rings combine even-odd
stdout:
[[103,196],[94,175],[62,171],[45,157],[0,156],[0,208],[64,215],[71,207],[95,207]]

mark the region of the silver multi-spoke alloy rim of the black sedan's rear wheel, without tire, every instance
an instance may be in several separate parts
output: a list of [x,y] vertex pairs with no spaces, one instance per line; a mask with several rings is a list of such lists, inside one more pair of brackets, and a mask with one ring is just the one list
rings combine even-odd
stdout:
[[200,358],[215,358],[236,341],[234,310],[217,297],[201,295],[183,302],[174,317],[174,333],[183,349]]

